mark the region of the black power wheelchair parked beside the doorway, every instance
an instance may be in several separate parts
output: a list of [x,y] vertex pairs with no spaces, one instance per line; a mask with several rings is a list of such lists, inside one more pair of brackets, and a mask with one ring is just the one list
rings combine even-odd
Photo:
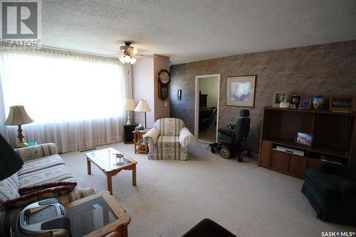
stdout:
[[[224,157],[224,152],[236,152],[237,159],[239,162],[242,161],[241,152],[247,151],[248,156],[250,156],[250,152],[248,149],[242,149],[241,145],[248,137],[248,132],[250,131],[250,112],[248,110],[241,110],[240,111],[240,118],[236,121],[235,125],[228,125],[229,129],[221,129],[218,130],[218,138],[221,140],[221,145],[227,145],[230,147],[229,151],[226,149],[221,148],[220,154],[221,157]],[[230,157],[230,154],[227,155]]]

